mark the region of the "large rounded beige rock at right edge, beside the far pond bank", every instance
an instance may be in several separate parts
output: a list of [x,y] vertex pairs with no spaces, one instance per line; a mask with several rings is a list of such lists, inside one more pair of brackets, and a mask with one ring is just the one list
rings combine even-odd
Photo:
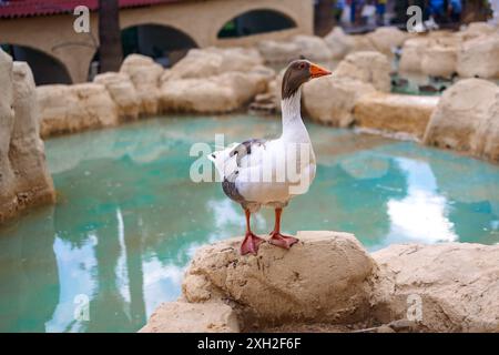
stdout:
[[444,92],[431,115],[426,144],[499,161],[499,87],[467,79]]

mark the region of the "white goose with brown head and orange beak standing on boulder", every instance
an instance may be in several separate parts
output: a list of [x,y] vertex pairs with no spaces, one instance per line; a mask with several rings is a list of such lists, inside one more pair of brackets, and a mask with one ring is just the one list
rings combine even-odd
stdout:
[[305,59],[291,62],[281,91],[281,136],[233,143],[207,156],[222,178],[223,192],[244,210],[246,232],[241,244],[242,255],[256,255],[259,245],[265,242],[251,229],[251,215],[262,206],[275,211],[269,244],[288,250],[298,242],[281,233],[281,216],[291,199],[307,192],[316,172],[314,150],[301,114],[302,85],[329,74],[330,71]]

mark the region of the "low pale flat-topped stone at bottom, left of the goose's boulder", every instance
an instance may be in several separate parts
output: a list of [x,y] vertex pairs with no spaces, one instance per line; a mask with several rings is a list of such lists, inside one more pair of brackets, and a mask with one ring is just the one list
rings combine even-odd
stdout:
[[159,306],[140,333],[238,333],[236,313],[223,303],[169,302]]

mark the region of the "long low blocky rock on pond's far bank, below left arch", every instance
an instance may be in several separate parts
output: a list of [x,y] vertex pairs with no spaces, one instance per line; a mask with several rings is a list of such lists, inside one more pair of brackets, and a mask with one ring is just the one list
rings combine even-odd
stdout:
[[42,85],[37,88],[42,136],[111,126],[119,110],[104,85]]

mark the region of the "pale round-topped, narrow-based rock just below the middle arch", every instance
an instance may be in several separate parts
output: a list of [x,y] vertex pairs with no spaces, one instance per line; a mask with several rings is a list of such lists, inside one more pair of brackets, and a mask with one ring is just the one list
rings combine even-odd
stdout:
[[120,72],[130,77],[141,101],[141,114],[152,115],[159,112],[160,78],[163,68],[152,58],[130,54],[123,61]]

